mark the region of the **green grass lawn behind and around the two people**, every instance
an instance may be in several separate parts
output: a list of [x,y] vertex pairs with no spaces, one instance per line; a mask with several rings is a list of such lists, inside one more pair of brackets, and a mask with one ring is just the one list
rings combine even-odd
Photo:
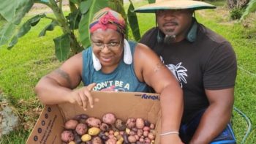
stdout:
[[[135,3],[135,7],[143,4],[146,4],[146,1]],[[252,26],[245,29],[242,23],[230,20],[229,13],[223,6],[225,1],[214,1],[214,4],[218,6],[217,10],[200,10],[196,13],[196,18],[233,45],[238,60],[235,107],[252,121],[252,132],[246,144],[256,143],[255,19],[249,22]],[[155,26],[154,14],[138,13],[138,20],[141,34]],[[61,64],[55,58],[53,45],[53,38],[61,35],[61,30],[57,28],[48,31],[45,37],[37,37],[48,23],[49,20],[41,20],[26,36],[19,39],[12,50],[7,50],[6,45],[0,47],[0,96],[10,100],[10,105],[17,109],[21,121],[19,129],[2,137],[0,143],[25,143],[39,116],[38,111],[42,108],[34,94],[34,86],[40,77]],[[129,38],[133,39],[131,32]],[[233,111],[233,128],[238,143],[241,143],[247,124],[244,117],[236,111]]]

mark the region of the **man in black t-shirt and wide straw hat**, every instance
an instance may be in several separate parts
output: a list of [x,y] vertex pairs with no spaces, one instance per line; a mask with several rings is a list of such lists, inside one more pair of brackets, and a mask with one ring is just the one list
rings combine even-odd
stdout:
[[157,18],[157,26],[140,42],[158,54],[183,88],[181,140],[236,143],[230,126],[236,55],[226,39],[195,19],[195,10],[207,8],[215,7],[192,0],[157,0],[139,7],[135,12],[155,12]]

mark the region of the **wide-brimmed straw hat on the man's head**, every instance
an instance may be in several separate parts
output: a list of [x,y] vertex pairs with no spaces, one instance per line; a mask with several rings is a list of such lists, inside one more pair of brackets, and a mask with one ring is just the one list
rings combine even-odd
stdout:
[[207,4],[203,1],[193,0],[156,0],[153,4],[146,4],[143,7],[138,7],[135,12],[152,13],[156,10],[181,10],[181,9],[214,9],[214,5]]

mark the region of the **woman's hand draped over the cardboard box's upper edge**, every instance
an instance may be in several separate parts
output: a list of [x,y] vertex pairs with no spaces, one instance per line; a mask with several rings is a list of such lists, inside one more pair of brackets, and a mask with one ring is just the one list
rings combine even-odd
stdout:
[[88,103],[91,108],[94,107],[94,99],[91,96],[91,90],[94,86],[96,86],[96,83],[73,90],[69,102],[72,104],[77,103],[80,107],[83,107],[83,110],[87,110]]

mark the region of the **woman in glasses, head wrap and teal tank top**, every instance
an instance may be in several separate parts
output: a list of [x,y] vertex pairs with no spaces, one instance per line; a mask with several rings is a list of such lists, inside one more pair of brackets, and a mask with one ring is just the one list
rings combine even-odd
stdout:
[[[94,15],[90,32],[91,47],[39,80],[35,90],[40,101],[48,105],[70,102],[86,110],[88,105],[93,107],[91,90],[147,92],[151,86],[160,94],[161,143],[181,143],[182,91],[158,56],[146,45],[127,42],[124,18],[109,8]],[[84,87],[75,89],[80,81]]]

